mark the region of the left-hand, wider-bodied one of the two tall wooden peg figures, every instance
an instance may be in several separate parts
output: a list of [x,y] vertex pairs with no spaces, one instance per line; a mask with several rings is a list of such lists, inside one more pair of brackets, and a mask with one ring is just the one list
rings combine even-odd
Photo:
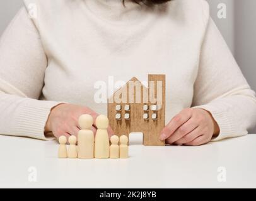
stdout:
[[83,114],[78,119],[81,130],[78,132],[78,158],[94,158],[94,134],[91,131],[93,117]]

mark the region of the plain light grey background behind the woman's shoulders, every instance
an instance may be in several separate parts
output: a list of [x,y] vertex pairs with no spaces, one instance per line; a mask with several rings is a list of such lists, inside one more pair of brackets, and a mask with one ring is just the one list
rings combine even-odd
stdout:
[[[54,0],[52,0],[54,1]],[[256,1],[255,0],[207,0],[211,16],[230,46],[236,61],[253,90],[256,90]],[[218,4],[227,5],[227,18],[217,16]],[[22,6],[22,0],[0,1],[0,35]],[[256,129],[252,131],[256,133]]]

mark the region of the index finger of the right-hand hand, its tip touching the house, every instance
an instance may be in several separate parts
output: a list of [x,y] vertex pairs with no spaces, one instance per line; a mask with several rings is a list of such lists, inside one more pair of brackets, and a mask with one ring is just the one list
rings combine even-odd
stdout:
[[187,122],[192,116],[192,112],[189,109],[184,109],[177,114],[173,119],[165,126],[161,131],[160,139],[165,140],[169,138],[182,124]]

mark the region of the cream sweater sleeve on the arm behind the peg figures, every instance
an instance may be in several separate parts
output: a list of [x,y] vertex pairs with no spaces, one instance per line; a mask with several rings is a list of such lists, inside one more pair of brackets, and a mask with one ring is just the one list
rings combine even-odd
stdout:
[[60,102],[38,100],[46,67],[40,35],[22,8],[0,38],[0,134],[49,139],[45,122]]

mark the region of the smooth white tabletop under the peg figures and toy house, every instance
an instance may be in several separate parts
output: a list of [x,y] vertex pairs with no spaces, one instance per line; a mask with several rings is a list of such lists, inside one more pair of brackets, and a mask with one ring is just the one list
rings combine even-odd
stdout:
[[[255,134],[197,147],[146,147],[131,138],[127,160],[63,160],[56,141],[0,136],[0,187],[256,187]],[[219,166],[226,182],[218,182]]]

